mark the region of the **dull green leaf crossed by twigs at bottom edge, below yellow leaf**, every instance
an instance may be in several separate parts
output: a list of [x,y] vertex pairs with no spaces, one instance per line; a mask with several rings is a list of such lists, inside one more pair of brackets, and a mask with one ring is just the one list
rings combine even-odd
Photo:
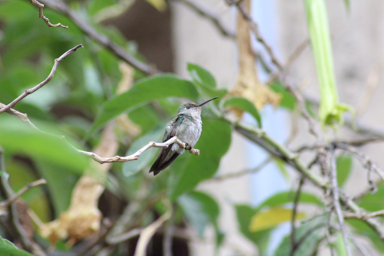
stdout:
[[[316,255],[315,252],[318,248],[318,243],[323,237],[324,228],[326,225],[324,224],[324,228],[314,229],[313,232],[307,233],[310,229],[313,229],[315,226],[326,221],[325,216],[315,218],[312,221],[306,222],[302,224],[298,228],[296,228],[296,241],[303,238],[306,235],[305,240],[301,245],[296,249],[295,256],[301,255]],[[279,244],[278,248],[275,250],[275,256],[280,255],[290,255],[291,252],[291,234],[288,234],[283,238],[283,241]]]

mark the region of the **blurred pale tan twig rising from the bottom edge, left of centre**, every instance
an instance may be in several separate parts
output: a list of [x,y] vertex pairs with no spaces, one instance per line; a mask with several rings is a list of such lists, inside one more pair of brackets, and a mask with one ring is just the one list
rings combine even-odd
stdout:
[[145,256],[147,251],[147,246],[152,236],[171,216],[172,208],[168,206],[166,213],[161,215],[156,221],[152,222],[146,228],[142,229],[140,232],[139,241],[137,241],[136,250],[134,256]]

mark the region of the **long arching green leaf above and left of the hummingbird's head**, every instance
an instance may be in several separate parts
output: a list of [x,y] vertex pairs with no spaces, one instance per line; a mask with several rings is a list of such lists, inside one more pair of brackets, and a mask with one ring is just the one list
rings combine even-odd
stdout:
[[107,121],[147,101],[167,97],[184,97],[196,100],[197,96],[198,93],[193,83],[176,76],[158,75],[144,78],[138,81],[131,90],[115,96],[104,104],[88,135]]

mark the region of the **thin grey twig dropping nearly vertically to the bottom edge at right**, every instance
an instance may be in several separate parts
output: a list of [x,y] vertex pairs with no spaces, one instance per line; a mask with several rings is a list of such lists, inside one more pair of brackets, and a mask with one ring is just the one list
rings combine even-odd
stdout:
[[337,176],[336,176],[336,157],[334,155],[334,149],[331,149],[330,161],[331,161],[331,166],[330,166],[331,168],[329,171],[329,180],[331,181],[333,209],[336,212],[336,215],[338,217],[339,227],[340,227],[341,234],[343,235],[343,241],[344,241],[344,246],[346,248],[346,252],[348,256],[351,256],[352,252],[349,246],[348,234],[347,234],[347,231],[345,230],[344,217],[343,217],[343,213],[341,212],[341,206],[339,202],[339,191],[338,191]]

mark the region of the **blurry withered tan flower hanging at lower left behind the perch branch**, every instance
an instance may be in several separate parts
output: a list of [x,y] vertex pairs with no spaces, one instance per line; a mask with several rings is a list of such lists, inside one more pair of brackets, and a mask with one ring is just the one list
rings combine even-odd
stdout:
[[[117,150],[118,143],[113,124],[109,124],[104,129],[101,142],[94,152],[101,155],[114,155]],[[93,160],[90,161],[89,170],[86,170],[73,189],[69,209],[61,213],[58,219],[40,226],[41,236],[49,238],[51,244],[69,238],[68,244],[72,245],[80,239],[97,233],[100,229],[102,215],[98,209],[98,201],[104,191],[100,175],[108,172],[111,163],[100,165]]]

